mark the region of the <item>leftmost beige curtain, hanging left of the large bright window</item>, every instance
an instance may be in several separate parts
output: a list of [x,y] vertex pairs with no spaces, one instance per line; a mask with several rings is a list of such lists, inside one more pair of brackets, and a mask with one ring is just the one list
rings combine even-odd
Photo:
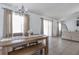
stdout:
[[12,11],[4,9],[3,37],[12,36]]

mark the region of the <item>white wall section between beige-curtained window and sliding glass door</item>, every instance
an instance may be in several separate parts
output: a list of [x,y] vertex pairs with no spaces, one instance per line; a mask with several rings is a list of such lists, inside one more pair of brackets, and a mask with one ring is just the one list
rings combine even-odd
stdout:
[[41,16],[29,13],[30,15],[30,29],[34,34],[40,34],[41,33]]

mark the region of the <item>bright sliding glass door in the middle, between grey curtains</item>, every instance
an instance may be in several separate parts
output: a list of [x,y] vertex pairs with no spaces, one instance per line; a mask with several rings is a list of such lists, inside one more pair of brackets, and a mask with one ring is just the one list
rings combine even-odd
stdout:
[[52,21],[43,20],[43,34],[47,36],[52,36]]

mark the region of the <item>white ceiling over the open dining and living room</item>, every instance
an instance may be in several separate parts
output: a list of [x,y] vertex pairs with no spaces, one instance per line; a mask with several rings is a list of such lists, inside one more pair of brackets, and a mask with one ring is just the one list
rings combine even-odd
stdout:
[[[21,7],[21,3],[9,3],[14,7]],[[25,8],[40,15],[63,18],[79,11],[79,3],[23,3]]]

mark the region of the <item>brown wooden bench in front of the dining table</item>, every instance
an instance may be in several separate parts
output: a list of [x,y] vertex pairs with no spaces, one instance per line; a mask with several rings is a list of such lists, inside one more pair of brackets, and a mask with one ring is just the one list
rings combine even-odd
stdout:
[[23,49],[15,50],[12,52],[9,52],[9,55],[33,55],[35,52],[45,49],[46,46],[42,44],[38,44],[35,46],[26,47]]

